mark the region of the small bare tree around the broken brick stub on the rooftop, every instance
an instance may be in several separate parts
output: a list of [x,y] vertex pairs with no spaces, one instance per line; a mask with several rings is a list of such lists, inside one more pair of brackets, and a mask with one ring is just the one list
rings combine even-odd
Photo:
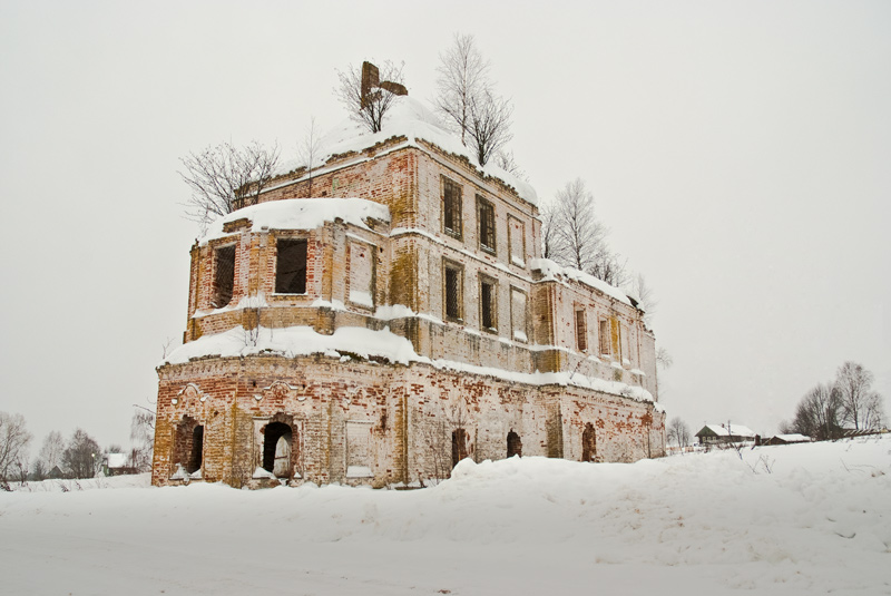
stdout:
[[[346,108],[350,118],[371,133],[380,133],[383,118],[398,95],[405,95],[402,69],[404,62],[395,65],[390,60],[380,68],[371,62],[364,62],[362,68],[337,70],[339,86],[334,95]],[[396,90],[398,92],[393,92]]]

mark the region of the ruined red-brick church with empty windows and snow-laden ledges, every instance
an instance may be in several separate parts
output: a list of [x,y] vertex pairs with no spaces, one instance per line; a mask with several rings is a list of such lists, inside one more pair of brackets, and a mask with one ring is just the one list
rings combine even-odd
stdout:
[[535,192],[418,101],[345,125],[192,247],[154,485],[424,485],[476,461],[664,455],[637,303],[540,257]]

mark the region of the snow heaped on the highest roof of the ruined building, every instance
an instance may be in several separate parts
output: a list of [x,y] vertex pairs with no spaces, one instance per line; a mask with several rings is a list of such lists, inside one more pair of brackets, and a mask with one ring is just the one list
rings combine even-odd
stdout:
[[[349,118],[329,130],[319,140],[319,158],[312,167],[322,167],[334,155],[361,152],[394,136],[407,137],[408,144],[415,147],[419,146],[418,140],[423,139],[448,153],[464,156],[487,176],[500,178],[512,186],[523,199],[533,205],[538,204],[538,194],[529,183],[501,169],[492,162],[479,166],[473,152],[464,147],[458,136],[446,129],[435,114],[409,96],[393,98],[390,109],[384,115],[380,133],[371,133]],[[275,175],[287,174],[302,166],[306,164],[298,159],[286,159],[278,166]]]

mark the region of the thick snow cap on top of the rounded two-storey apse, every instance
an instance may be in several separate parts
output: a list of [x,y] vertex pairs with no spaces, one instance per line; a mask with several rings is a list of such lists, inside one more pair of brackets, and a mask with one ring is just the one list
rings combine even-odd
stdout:
[[365,224],[369,218],[389,223],[390,209],[386,205],[364,198],[325,197],[270,201],[243,207],[221,217],[210,224],[200,243],[206,244],[208,241],[226,236],[227,233],[223,232],[224,224],[245,218],[251,221],[252,232],[260,232],[264,227],[268,229],[315,229],[335,218],[369,229]]

